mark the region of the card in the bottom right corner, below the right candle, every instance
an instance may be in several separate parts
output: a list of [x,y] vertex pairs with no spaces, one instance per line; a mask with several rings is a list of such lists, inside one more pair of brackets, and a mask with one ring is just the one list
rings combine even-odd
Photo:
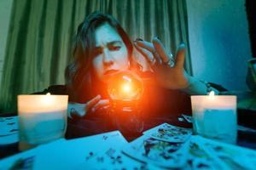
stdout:
[[197,137],[197,140],[212,155],[218,156],[218,159],[224,161],[230,169],[255,169],[256,151],[242,148],[233,144]]

